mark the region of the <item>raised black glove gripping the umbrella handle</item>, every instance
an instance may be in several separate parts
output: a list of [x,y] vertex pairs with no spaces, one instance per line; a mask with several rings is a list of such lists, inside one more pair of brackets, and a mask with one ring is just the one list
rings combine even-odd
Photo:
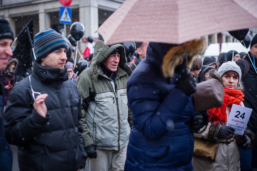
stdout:
[[196,92],[196,79],[192,74],[185,73],[179,78],[175,88],[179,88],[189,96]]

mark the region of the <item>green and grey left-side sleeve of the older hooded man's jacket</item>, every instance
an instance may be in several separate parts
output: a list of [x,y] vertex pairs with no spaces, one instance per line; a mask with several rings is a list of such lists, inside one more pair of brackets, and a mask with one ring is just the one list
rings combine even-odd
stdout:
[[78,89],[81,94],[81,111],[82,111],[81,124],[83,127],[82,135],[84,138],[84,147],[87,147],[91,144],[94,144],[92,135],[87,129],[87,121],[86,121],[86,111],[90,103],[89,86],[88,86],[89,83],[87,81],[87,78],[80,75],[76,81],[76,85],[78,86]]

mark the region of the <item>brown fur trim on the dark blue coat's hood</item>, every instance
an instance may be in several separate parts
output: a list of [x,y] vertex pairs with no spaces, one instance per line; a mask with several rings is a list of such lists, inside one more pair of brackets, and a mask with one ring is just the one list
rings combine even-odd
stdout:
[[[187,46],[187,59],[188,59],[188,68],[191,68],[192,62],[196,55],[202,55],[206,49],[205,39],[192,40],[186,43]],[[173,77],[174,70],[181,59],[186,59],[186,50],[185,44],[180,46],[172,47],[166,55],[163,57],[162,71],[164,77]]]

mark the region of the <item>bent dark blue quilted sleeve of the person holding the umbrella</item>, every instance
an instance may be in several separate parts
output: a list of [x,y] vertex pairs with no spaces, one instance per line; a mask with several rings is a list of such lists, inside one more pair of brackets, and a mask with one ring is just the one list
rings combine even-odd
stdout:
[[[158,139],[167,133],[167,121],[177,122],[176,116],[189,103],[189,97],[182,90],[173,88],[161,100],[157,82],[152,78],[144,81],[128,81],[128,105],[132,110],[133,127],[141,131],[147,138]],[[140,79],[140,78],[138,78]]]

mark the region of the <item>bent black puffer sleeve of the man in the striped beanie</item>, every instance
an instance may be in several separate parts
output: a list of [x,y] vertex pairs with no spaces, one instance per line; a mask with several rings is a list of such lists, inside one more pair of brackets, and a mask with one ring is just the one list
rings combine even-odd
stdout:
[[[21,85],[21,84],[20,84]],[[23,89],[23,90],[22,90]],[[48,120],[33,109],[31,95],[27,89],[15,86],[5,108],[5,138],[9,144],[23,146],[31,141]]]

